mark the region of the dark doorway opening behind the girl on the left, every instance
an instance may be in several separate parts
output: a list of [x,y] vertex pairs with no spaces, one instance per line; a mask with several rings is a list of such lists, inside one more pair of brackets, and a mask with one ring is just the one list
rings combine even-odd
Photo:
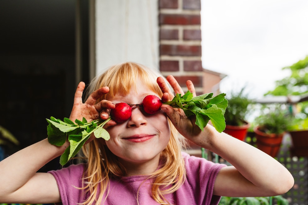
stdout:
[[[20,142],[5,146],[6,155],[46,138],[45,118],[70,115],[75,6],[75,0],[0,1],[0,125]],[[59,167],[57,158],[40,171]]]

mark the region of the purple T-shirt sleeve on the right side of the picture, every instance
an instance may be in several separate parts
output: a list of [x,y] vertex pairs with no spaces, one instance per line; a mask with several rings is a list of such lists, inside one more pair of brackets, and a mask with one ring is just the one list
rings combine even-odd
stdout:
[[213,163],[204,158],[183,154],[186,177],[194,191],[197,204],[218,204],[220,196],[213,195],[216,176],[225,164]]

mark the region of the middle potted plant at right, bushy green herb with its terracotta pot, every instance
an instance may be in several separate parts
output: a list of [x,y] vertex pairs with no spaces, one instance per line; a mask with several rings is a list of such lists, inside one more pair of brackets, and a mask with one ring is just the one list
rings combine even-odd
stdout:
[[276,157],[289,123],[290,114],[282,107],[268,106],[262,109],[256,118],[257,126],[253,129],[258,149]]

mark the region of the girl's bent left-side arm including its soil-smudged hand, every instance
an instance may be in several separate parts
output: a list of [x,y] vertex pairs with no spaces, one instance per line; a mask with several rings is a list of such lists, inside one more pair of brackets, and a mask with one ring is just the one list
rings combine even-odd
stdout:
[[[109,117],[107,109],[114,108],[110,101],[97,99],[109,91],[103,87],[94,91],[85,103],[82,103],[84,83],[80,82],[74,98],[70,119],[88,122]],[[106,126],[114,124],[109,121]],[[55,178],[49,173],[37,173],[46,163],[60,156],[69,145],[67,141],[61,147],[49,144],[47,139],[22,149],[0,162],[0,203],[56,203],[60,202],[60,194]]]

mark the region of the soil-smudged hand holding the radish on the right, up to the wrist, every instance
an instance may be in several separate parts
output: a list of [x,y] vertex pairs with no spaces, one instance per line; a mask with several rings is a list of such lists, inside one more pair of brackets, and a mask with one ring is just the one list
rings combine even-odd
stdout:
[[[170,83],[171,87],[174,89],[175,93],[184,95],[183,89],[180,87],[179,83],[172,75],[167,76],[166,79]],[[157,78],[157,84],[161,88],[161,91],[164,93],[161,100],[163,102],[172,100],[174,94],[167,86],[166,82],[162,77]],[[193,93],[193,96],[196,96],[196,90],[193,85],[193,82],[190,80],[186,81],[186,86],[188,90]],[[200,135],[201,130],[195,124],[195,118],[188,118],[182,109],[174,109],[170,105],[162,105],[161,109],[168,115],[171,122],[174,124],[174,126],[181,135],[190,140],[192,140],[192,137]]]

